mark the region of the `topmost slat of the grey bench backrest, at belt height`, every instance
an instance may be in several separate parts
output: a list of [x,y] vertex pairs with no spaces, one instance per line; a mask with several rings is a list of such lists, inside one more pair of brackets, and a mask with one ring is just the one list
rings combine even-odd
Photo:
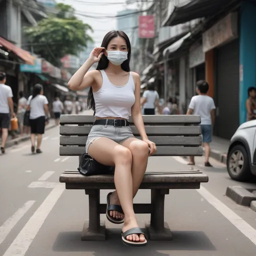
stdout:
[[[142,115],[144,124],[199,124],[201,122],[200,115]],[[60,124],[92,124],[95,117],[93,115],[72,115],[61,114]],[[131,116],[129,121],[133,123]]]

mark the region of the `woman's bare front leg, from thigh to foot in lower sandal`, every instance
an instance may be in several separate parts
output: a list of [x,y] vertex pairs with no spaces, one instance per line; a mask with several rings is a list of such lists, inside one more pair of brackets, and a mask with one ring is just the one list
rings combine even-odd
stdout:
[[[109,138],[100,137],[90,144],[88,153],[102,164],[115,165],[114,184],[124,212],[122,230],[125,232],[132,227],[137,227],[132,201],[131,151]],[[137,234],[132,234],[129,235],[129,240],[145,241],[145,238],[143,235],[138,237]]]

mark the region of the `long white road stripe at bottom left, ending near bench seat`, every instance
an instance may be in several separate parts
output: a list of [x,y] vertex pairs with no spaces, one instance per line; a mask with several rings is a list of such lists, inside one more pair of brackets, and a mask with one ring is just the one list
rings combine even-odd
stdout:
[[42,204],[37,208],[34,214],[29,218],[19,234],[10,244],[3,256],[24,256],[35,235],[42,226],[44,220],[54,207],[55,203],[63,193],[65,187],[63,184],[58,184],[49,195],[45,198]]

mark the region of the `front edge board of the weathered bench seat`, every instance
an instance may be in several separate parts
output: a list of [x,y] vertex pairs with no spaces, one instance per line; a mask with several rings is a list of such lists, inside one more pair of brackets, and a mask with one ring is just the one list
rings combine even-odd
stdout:
[[[83,176],[79,173],[62,173],[59,177],[62,183],[114,183],[113,175]],[[145,174],[142,183],[170,183],[170,182],[208,182],[208,176],[203,173],[177,174]]]

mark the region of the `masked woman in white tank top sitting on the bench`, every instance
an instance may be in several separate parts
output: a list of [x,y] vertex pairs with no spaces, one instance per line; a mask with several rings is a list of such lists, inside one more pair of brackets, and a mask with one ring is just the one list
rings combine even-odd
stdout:
[[[144,246],[147,241],[138,227],[132,199],[146,170],[148,150],[152,155],[156,146],[145,133],[140,112],[140,78],[130,72],[130,52],[130,41],[123,31],[108,32],[101,47],[92,50],[68,86],[72,90],[90,86],[88,106],[95,111],[95,121],[85,151],[101,164],[115,166],[116,190],[107,196],[107,219],[124,222],[123,243]],[[88,71],[95,62],[96,70]],[[130,114],[142,140],[132,134]]]

